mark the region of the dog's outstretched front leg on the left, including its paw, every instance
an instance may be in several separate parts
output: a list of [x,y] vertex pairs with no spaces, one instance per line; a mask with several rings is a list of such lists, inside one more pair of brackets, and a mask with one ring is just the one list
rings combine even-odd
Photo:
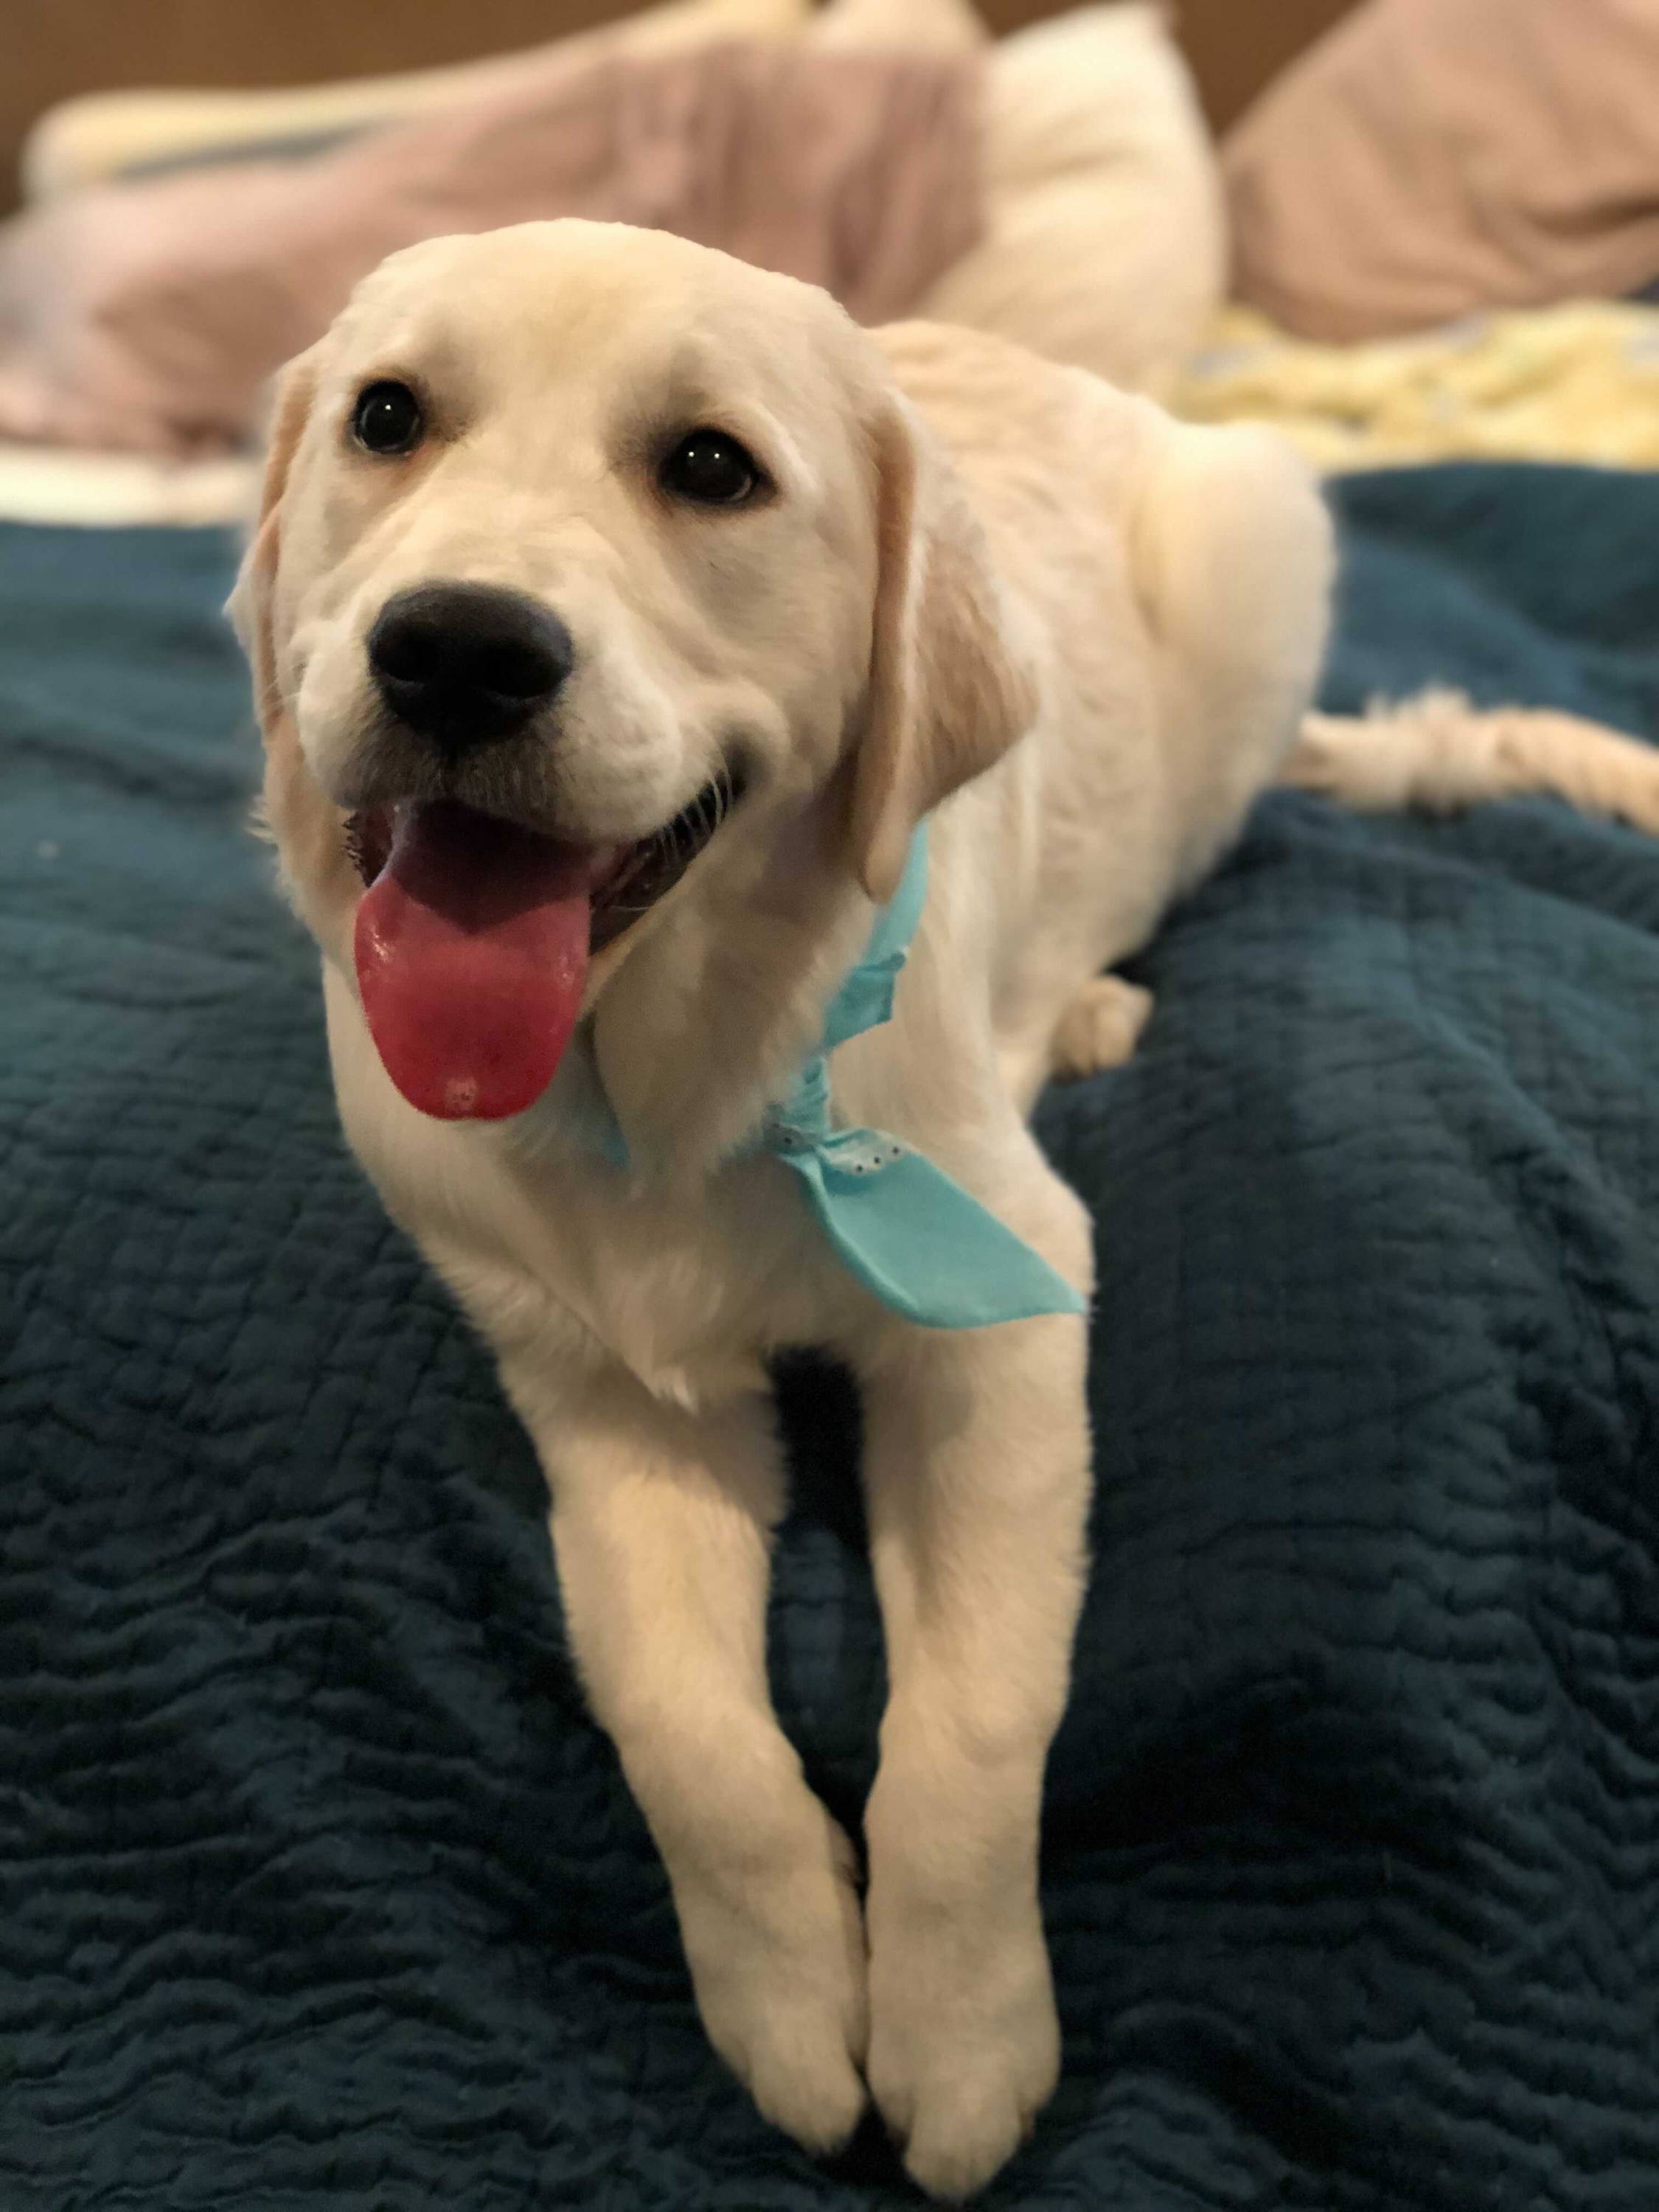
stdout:
[[765,1681],[783,1498],[768,1398],[686,1413],[626,1374],[549,1394],[504,1365],[553,1491],[571,1644],[668,1867],[714,2048],[812,2150],[865,2104],[854,1854]]

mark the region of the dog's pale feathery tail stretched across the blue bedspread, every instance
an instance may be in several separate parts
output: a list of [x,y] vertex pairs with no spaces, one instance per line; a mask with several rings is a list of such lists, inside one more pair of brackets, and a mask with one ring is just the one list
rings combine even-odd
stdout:
[[1544,792],[1659,836],[1659,748],[1577,714],[1475,708],[1453,690],[1363,717],[1305,714],[1279,781],[1369,814]]

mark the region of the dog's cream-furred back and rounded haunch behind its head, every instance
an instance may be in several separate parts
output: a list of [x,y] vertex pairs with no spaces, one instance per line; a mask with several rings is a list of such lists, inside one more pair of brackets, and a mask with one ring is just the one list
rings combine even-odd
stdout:
[[995,920],[993,1011],[1033,1093],[1068,1004],[1135,951],[1274,781],[1325,644],[1332,526],[1305,465],[971,332],[878,332],[964,484],[1042,710],[940,810]]

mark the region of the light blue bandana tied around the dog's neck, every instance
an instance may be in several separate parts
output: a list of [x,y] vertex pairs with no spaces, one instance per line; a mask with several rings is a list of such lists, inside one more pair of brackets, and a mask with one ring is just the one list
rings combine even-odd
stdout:
[[[830,1053],[891,1018],[894,984],[925,900],[922,825],[891,905],[876,916],[865,958],[830,1002],[821,1051],[794,1091],[768,1108],[739,1157],[776,1155],[799,1179],[836,1259],[907,1321],[978,1329],[1033,1314],[1082,1314],[1084,1301],[1042,1254],[902,1137],[830,1126]],[[615,1117],[604,1152],[613,1166],[628,1166]]]

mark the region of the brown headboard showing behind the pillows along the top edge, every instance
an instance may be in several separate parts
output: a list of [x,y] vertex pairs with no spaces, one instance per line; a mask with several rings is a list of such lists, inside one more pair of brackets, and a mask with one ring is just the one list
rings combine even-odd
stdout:
[[[1179,0],[1177,27],[1217,128],[1354,0]],[[1060,0],[980,0],[998,31]],[[29,124],[115,86],[316,84],[504,53],[626,13],[619,0],[11,0],[0,71],[0,208]]]

